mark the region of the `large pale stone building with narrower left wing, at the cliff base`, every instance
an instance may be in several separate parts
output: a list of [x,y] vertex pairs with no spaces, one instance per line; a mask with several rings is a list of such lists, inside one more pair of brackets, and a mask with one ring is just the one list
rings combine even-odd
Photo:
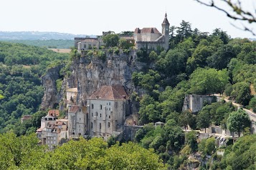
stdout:
[[129,111],[128,94],[123,86],[101,86],[83,106],[70,106],[69,136],[102,136],[108,139],[123,131]]

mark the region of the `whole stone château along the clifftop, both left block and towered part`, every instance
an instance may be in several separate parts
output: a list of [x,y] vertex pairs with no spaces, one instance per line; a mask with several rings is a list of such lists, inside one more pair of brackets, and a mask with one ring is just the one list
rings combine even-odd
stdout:
[[[127,41],[134,42],[135,49],[147,48],[147,49],[157,49],[163,48],[165,50],[169,49],[169,21],[167,19],[167,14],[163,19],[161,24],[162,31],[161,33],[155,27],[136,28],[133,32],[132,37],[120,37],[126,39]],[[87,50],[87,49],[100,49],[100,46],[104,46],[103,36],[111,34],[111,31],[104,32],[102,36],[98,38],[81,38],[75,37],[75,48],[78,51]]]

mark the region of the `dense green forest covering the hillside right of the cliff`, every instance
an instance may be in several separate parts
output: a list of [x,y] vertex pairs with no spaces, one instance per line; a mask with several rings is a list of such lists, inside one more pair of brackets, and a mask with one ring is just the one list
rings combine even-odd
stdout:
[[[192,30],[191,24],[182,21],[180,26],[171,27],[169,51],[138,51],[138,61],[146,62],[147,66],[133,73],[133,83],[146,90],[146,95],[139,97],[134,92],[132,99],[140,106],[138,123],[146,125],[137,131],[136,141],[146,149],[154,149],[169,164],[169,169],[186,169],[190,154],[201,153],[204,159],[206,155],[217,155],[217,149],[214,138],[199,142],[196,131],[184,133],[182,129],[188,126],[206,129],[212,125],[222,126],[238,136],[242,132],[248,134],[249,116],[231,103],[205,103],[196,114],[181,109],[185,94],[224,94],[255,111],[255,48],[255,41],[231,39],[220,29],[214,29],[212,34]],[[156,129],[151,122],[157,121],[165,122],[164,127]],[[201,168],[209,169],[214,162],[212,169],[227,166],[237,169],[238,164],[227,161],[219,164],[222,159],[227,160],[227,156],[215,156],[207,164],[201,164]],[[244,161],[248,163],[246,168],[255,166],[255,161]]]

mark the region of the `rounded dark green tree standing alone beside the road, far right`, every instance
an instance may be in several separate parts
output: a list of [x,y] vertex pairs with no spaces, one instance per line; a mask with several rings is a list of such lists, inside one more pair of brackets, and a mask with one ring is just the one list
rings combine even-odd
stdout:
[[232,132],[237,132],[240,137],[240,133],[245,130],[246,127],[250,127],[251,121],[248,114],[239,109],[229,114],[227,118],[227,129]]

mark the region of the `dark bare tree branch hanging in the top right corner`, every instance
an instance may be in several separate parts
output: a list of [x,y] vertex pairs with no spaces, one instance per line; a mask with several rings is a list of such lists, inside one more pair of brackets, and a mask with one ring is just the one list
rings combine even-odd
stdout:
[[[220,6],[217,6],[215,4],[215,0],[210,0],[208,2],[204,2],[202,0],[195,0],[195,1],[197,1],[200,4],[203,4],[205,6],[210,6],[219,11],[224,12],[225,14],[227,14],[227,17],[229,17],[230,19],[234,19],[234,20],[238,20],[238,21],[242,21],[242,22],[248,22],[249,24],[256,23],[256,14],[254,14],[250,11],[246,11],[245,9],[242,9],[240,0],[237,0],[237,1],[221,0],[222,2],[224,2],[224,4],[229,6],[229,9],[232,9],[232,11],[230,11],[230,12]],[[240,26],[236,26],[234,24],[232,24],[232,25],[234,27],[236,27],[237,29],[241,29],[243,31],[250,31],[254,36],[256,35],[255,31],[253,29],[248,28],[244,24],[242,24],[242,28]]]

